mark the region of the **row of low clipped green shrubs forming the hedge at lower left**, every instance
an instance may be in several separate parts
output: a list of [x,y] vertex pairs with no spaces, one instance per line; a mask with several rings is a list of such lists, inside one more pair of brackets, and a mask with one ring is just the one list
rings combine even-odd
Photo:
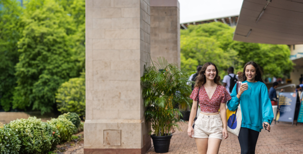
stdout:
[[77,117],[68,113],[47,122],[36,117],[14,120],[0,128],[0,153],[48,153],[77,133]]

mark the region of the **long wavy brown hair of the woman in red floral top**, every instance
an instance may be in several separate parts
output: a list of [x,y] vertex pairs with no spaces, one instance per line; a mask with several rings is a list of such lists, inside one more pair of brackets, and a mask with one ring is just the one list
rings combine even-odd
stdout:
[[211,63],[211,62],[207,62],[205,63],[203,66],[202,66],[202,69],[199,71],[199,74],[196,78],[196,84],[195,84],[195,87],[200,87],[202,85],[204,85],[206,83],[206,77],[204,75],[205,71],[206,71],[206,68],[207,66],[210,66],[210,65],[213,65],[215,66],[216,68],[216,76],[215,76],[215,79],[214,79],[214,82],[217,84],[217,85],[221,85],[220,83],[220,80],[221,80],[221,77],[219,75],[219,71],[218,71],[218,68],[217,66],[214,64],[214,63]]

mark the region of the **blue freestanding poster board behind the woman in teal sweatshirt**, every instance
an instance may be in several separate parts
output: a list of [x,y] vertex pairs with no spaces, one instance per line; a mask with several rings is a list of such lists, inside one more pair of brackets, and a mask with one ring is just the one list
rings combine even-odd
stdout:
[[297,97],[297,92],[279,93],[276,121],[292,122],[294,124]]

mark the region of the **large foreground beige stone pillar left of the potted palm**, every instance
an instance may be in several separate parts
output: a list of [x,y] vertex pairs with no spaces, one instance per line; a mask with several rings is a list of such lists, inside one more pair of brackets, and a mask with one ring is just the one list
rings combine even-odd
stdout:
[[140,77],[150,65],[149,0],[86,0],[84,153],[150,148]]

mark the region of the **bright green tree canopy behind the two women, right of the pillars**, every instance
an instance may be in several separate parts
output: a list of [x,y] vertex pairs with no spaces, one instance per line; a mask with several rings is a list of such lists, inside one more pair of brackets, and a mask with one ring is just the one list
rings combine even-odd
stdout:
[[292,70],[287,45],[256,44],[233,41],[234,28],[223,23],[190,25],[181,30],[181,68],[195,71],[197,65],[212,62],[221,76],[232,66],[243,71],[243,66],[254,61],[266,77],[283,77]]

